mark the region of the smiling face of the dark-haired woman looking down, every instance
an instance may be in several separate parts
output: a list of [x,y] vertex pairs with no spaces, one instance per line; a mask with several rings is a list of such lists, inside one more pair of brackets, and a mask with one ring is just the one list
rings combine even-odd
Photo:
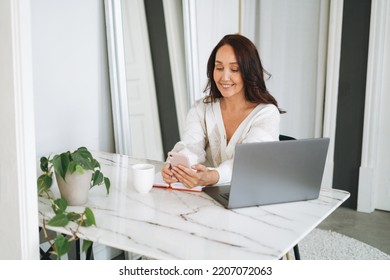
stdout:
[[245,96],[240,67],[230,45],[224,45],[217,51],[214,80],[223,97]]

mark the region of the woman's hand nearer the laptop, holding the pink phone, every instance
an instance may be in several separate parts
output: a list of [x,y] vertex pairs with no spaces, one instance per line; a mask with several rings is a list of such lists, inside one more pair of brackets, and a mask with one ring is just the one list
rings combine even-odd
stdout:
[[219,179],[219,174],[216,170],[208,170],[202,164],[195,164],[191,168],[179,164],[172,167],[170,172],[177,181],[188,188],[214,185]]

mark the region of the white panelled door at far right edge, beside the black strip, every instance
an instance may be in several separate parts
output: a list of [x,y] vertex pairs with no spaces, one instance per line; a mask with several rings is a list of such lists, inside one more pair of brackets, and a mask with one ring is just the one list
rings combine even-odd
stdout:
[[390,211],[390,2],[373,1],[358,211]]

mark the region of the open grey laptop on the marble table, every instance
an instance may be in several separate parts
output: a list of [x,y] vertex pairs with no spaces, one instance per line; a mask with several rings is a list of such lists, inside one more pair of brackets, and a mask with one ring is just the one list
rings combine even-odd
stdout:
[[237,144],[230,186],[203,188],[225,208],[317,199],[329,138]]

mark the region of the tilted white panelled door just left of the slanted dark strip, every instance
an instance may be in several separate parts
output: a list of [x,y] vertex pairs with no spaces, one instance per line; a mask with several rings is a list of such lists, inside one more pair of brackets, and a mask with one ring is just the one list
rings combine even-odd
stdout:
[[163,160],[144,1],[122,1],[122,18],[131,156]]

